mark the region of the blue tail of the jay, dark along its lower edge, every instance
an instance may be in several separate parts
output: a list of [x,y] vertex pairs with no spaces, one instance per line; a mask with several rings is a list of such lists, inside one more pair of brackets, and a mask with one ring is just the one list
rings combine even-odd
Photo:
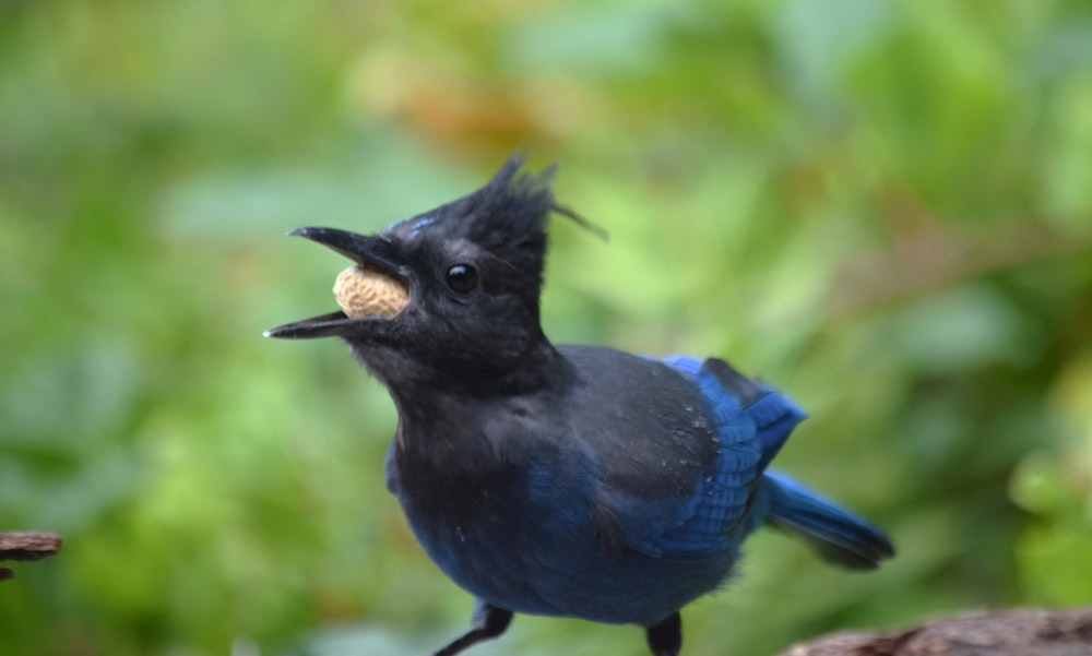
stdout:
[[765,521],[799,537],[832,563],[871,570],[894,556],[894,547],[879,529],[783,474],[768,470],[762,491],[769,503]]

